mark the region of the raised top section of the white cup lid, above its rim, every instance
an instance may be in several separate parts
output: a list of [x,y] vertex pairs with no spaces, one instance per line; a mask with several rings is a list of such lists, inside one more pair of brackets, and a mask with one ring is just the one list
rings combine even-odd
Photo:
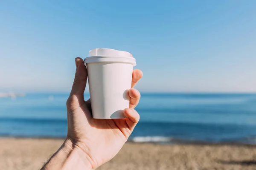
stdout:
[[110,48],[95,48],[89,51],[89,57],[132,57],[131,53],[127,51],[119,51]]

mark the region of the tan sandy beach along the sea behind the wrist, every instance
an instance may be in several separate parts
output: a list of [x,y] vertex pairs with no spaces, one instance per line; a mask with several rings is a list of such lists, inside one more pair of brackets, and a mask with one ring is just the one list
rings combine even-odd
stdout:
[[[38,170],[62,142],[0,138],[0,170]],[[128,142],[98,170],[256,170],[256,146]]]

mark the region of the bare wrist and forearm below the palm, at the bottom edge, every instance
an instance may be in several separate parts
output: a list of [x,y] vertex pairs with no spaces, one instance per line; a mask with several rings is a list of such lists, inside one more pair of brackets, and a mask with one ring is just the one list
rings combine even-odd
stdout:
[[56,153],[44,164],[41,170],[92,170],[92,166],[84,152],[65,140]]

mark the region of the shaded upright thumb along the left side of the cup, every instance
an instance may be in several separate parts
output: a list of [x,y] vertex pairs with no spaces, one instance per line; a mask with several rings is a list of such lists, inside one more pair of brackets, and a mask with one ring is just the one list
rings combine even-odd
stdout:
[[84,60],[77,57],[76,58],[76,75],[73,82],[72,90],[70,96],[77,96],[78,98],[84,98],[84,90],[87,81],[87,69],[84,65]]

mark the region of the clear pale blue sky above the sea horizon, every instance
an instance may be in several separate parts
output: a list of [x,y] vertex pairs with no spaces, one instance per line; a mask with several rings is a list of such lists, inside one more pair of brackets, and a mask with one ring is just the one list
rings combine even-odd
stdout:
[[256,92],[255,6],[255,0],[1,0],[0,91],[70,91],[75,58],[113,48],[136,58],[142,92]]

